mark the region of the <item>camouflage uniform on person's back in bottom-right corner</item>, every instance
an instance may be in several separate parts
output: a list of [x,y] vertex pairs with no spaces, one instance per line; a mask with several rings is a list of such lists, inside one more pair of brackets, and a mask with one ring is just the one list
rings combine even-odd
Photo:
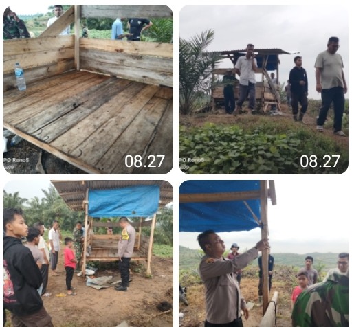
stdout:
[[303,291],[292,311],[292,326],[349,326],[349,278],[334,273]]

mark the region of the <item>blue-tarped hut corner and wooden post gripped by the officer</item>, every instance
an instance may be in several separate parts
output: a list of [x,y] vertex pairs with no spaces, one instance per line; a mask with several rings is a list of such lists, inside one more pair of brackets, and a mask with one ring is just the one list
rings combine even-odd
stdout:
[[[261,239],[267,239],[269,199],[276,205],[274,181],[185,181],[179,188],[179,230],[233,232],[259,227]],[[263,250],[262,256],[268,258],[269,251]],[[269,304],[268,263],[262,260],[263,313]]]

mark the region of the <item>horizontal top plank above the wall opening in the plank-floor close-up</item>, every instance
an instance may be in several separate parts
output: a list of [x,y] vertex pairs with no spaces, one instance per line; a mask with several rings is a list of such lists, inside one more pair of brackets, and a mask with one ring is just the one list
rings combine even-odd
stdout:
[[167,5],[82,5],[85,18],[171,18],[173,11]]

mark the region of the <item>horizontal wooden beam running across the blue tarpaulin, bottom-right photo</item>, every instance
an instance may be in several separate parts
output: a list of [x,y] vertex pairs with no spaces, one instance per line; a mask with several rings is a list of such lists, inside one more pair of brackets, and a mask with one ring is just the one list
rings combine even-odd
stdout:
[[261,197],[260,191],[179,194],[179,203],[245,201],[245,200],[260,199],[260,197]]

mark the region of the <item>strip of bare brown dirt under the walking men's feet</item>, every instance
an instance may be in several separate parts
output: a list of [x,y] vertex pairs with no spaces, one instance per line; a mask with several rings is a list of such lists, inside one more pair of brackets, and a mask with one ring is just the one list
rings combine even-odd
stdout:
[[[252,124],[254,120],[258,120],[259,117],[263,117],[268,120],[273,120],[275,122],[281,122],[282,120],[286,120],[289,122],[293,122],[292,112],[289,110],[286,104],[281,105],[282,115],[274,115],[270,116],[268,113],[260,114],[260,115],[250,115],[246,113],[242,113],[241,115],[228,115],[225,113],[225,109],[217,109],[214,113],[199,113],[197,115],[179,115],[179,124],[186,127],[199,127],[203,126],[207,122],[213,124],[236,124],[237,122],[241,122],[241,124]],[[331,111],[331,110],[330,110]],[[312,131],[316,131],[316,115],[314,113],[309,113],[305,115],[304,125],[307,128],[310,128]],[[332,124],[333,115],[330,112],[327,118],[326,125],[330,122]],[[297,122],[296,124],[300,124]],[[344,133],[348,134],[348,130],[344,130]],[[316,132],[318,133],[318,132]],[[343,148],[349,147],[349,137],[341,137],[333,134],[332,127],[326,127],[324,130],[324,135],[331,137],[336,141],[336,144],[342,146]]]

